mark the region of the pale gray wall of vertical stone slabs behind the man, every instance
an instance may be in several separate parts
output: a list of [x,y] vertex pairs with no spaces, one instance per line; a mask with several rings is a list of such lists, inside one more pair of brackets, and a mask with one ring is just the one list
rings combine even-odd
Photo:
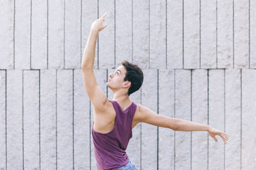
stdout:
[[140,123],[127,148],[138,169],[256,169],[256,1],[1,1],[0,169],[97,169],[81,59],[107,12],[97,82],[122,60],[145,74],[131,95],[158,114],[227,132]]

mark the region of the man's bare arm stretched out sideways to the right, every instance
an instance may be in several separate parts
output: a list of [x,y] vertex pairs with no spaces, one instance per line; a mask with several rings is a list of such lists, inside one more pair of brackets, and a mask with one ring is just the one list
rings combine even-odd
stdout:
[[218,141],[215,138],[216,135],[219,135],[223,139],[225,144],[228,140],[228,135],[225,132],[218,131],[217,129],[214,129],[209,125],[198,124],[196,122],[191,122],[180,118],[171,118],[164,115],[158,115],[146,106],[143,106],[141,104],[139,104],[138,106],[139,122],[144,122],[159,127],[166,127],[172,129],[173,131],[207,131],[216,142]]

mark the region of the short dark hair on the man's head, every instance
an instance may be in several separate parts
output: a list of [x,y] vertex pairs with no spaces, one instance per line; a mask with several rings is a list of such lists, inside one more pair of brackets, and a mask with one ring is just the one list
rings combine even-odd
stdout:
[[123,60],[121,64],[126,69],[124,81],[131,82],[131,86],[128,89],[128,96],[130,96],[130,94],[140,89],[143,83],[143,72],[138,65],[128,62],[127,60]]

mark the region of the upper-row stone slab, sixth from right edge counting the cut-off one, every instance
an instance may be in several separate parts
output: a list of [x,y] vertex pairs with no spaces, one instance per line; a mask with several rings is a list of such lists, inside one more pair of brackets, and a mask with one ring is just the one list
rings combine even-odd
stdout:
[[182,68],[182,1],[167,1],[167,67]]

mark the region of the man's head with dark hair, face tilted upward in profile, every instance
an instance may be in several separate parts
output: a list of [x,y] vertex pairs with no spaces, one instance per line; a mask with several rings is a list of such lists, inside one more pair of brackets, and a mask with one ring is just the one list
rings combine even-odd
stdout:
[[140,89],[143,83],[143,72],[136,64],[123,60],[121,66],[117,67],[114,73],[109,74],[106,85],[113,91],[124,91],[130,96]]

